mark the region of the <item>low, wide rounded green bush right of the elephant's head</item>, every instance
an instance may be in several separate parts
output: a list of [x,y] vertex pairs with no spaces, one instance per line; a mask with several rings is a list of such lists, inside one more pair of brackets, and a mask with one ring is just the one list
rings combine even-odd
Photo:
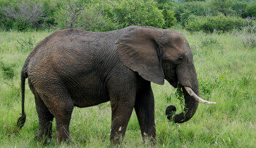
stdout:
[[241,28],[246,25],[246,20],[241,17],[225,17],[219,14],[217,16],[198,17],[192,15],[185,24],[188,31],[232,31],[234,28]]

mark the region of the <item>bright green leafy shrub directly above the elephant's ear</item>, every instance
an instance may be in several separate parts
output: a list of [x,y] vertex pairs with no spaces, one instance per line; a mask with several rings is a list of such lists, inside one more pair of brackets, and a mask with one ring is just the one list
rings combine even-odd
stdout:
[[164,16],[153,0],[120,0],[113,1],[113,20],[118,28],[127,26],[165,26]]

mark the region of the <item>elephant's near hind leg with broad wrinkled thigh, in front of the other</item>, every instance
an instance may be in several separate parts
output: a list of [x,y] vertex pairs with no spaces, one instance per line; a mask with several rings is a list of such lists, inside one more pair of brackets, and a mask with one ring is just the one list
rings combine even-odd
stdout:
[[56,119],[57,141],[69,141],[69,122],[74,108],[72,98],[60,79],[44,80],[42,84],[37,84],[37,92],[40,92],[40,98]]

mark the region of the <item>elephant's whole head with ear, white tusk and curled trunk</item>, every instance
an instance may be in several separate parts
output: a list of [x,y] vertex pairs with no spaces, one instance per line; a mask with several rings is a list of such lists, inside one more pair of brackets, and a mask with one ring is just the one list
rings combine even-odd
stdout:
[[198,96],[197,73],[192,51],[184,36],[177,31],[159,28],[138,28],[118,39],[118,55],[124,66],[137,71],[143,79],[164,84],[164,79],[184,92],[184,112],[176,112],[175,106],[166,109],[167,118],[174,122],[186,122],[193,117],[198,102],[215,104]]

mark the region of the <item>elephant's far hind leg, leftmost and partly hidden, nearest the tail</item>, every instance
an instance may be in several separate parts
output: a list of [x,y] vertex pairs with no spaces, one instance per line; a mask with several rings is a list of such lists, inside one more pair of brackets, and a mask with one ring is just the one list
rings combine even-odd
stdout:
[[46,144],[47,139],[51,139],[53,114],[50,113],[49,109],[45,106],[45,103],[37,93],[34,98],[39,120],[37,141],[43,140]]

